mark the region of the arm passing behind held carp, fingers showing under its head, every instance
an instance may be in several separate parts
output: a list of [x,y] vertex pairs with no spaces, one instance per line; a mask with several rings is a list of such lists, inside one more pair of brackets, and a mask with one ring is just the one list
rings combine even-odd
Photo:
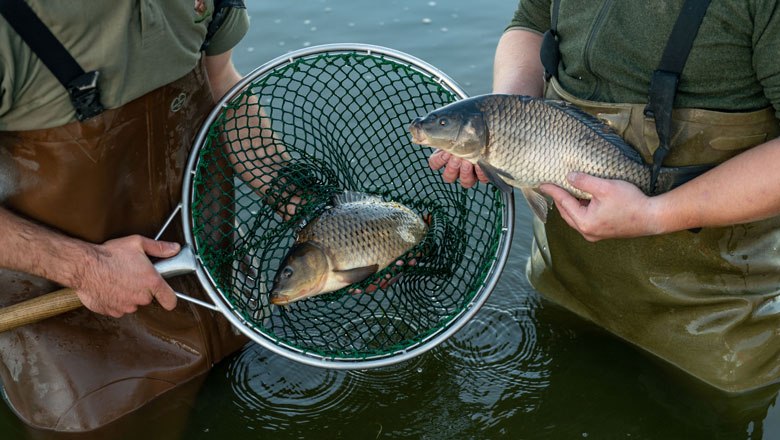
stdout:
[[[542,36],[526,29],[509,29],[501,36],[496,47],[493,65],[493,93],[541,96],[544,86],[539,49]],[[433,170],[442,167],[442,178],[452,183],[460,179],[464,188],[471,188],[477,181],[487,183],[482,170],[467,160],[436,150],[428,158]]]

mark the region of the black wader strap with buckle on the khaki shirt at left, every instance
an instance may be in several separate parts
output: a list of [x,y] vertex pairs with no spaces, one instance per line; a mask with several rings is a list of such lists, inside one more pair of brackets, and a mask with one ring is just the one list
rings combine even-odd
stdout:
[[103,112],[97,88],[99,72],[84,72],[24,0],[0,0],[0,14],[68,91],[79,121]]

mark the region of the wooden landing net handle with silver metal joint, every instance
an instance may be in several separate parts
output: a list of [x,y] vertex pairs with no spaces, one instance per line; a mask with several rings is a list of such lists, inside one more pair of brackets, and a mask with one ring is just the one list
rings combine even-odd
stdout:
[[[163,278],[195,271],[195,256],[189,246],[183,246],[175,257],[160,260],[154,268]],[[219,312],[214,304],[175,292],[178,298]],[[74,289],[65,288],[28,299],[0,309],[0,333],[83,307]]]

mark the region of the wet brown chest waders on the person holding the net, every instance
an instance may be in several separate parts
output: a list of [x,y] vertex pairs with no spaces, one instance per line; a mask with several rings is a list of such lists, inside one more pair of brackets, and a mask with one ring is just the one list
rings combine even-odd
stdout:
[[[180,200],[187,153],[214,106],[203,63],[120,108],[104,110],[91,96],[86,101],[96,111],[77,122],[0,132],[18,183],[5,206],[95,243],[153,236]],[[165,239],[181,239],[180,227],[167,230],[176,232]],[[205,298],[194,276],[168,282]],[[56,288],[0,270],[0,306]],[[0,334],[0,378],[4,397],[28,425],[90,431],[174,388],[192,398],[197,387],[181,385],[197,383],[246,341],[221,314],[185,301],[171,312],[153,304],[120,319],[82,308]]]

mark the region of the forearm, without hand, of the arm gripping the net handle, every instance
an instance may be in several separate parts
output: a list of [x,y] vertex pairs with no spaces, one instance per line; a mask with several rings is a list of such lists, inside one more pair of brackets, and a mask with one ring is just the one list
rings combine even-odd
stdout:
[[0,207],[0,267],[77,287],[98,248],[23,219]]

